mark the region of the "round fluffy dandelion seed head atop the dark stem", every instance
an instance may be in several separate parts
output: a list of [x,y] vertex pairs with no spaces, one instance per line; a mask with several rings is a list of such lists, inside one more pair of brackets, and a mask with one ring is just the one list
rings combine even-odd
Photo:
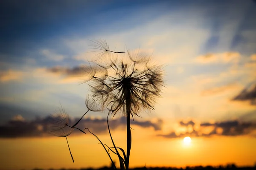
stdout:
[[[87,81],[91,97],[113,116],[121,112],[137,115],[144,109],[154,109],[156,98],[163,88],[163,67],[152,64],[150,57],[138,51],[127,51],[126,56],[111,56],[106,41],[92,45],[100,52],[94,77]],[[96,76],[97,75],[97,76]]]

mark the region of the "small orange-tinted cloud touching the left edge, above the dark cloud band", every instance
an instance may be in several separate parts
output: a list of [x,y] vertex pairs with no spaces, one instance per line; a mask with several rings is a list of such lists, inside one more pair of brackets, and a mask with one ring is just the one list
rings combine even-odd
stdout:
[[20,81],[23,76],[23,72],[12,69],[0,71],[0,82]]

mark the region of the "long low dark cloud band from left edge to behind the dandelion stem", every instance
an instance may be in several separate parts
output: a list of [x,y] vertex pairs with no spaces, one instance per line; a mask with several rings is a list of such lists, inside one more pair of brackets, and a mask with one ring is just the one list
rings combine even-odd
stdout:
[[[77,122],[77,119],[69,119],[69,124],[73,125]],[[32,121],[26,121],[22,116],[15,116],[6,125],[0,126],[0,138],[17,138],[17,137],[39,137],[39,136],[50,136],[49,125],[51,125],[52,116],[47,116],[44,119],[37,118]],[[111,130],[117,128],[126,128],[126,118],[121,117],[119,119],[111,119],[109,121]],[[140,127],[153,127],[154,130],[161,130],[162,120],[158,120],[156,123],[150,121],[131,121],[131,127],[137,125]],[[108,133],[108,126],[106,119],[92,119],[84,118],[76,126],[81,129],[85,127],[89,128],[91,132],[95,134]],[[82,134],[79,130],[75,130],[74,134]],[[72,133],[72,134],[73,134]]]

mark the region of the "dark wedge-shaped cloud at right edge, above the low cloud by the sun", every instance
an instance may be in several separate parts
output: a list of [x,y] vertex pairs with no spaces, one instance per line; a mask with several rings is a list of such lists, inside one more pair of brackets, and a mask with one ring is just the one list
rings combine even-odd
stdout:
[[248,100],[251,101],[252,105],[256,105],[256,84],[251,85],[249,88],[245,88],[239,95],[235,96],[233,100]]

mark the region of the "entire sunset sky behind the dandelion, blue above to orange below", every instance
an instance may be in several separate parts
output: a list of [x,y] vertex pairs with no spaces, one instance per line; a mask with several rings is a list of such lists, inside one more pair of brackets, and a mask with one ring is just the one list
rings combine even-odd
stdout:
[[[154,110],[131,121],[131,167],[255,164],[255,1],[3,0],[0,16],[0,170],[110,164],[90,133],[68,136],[75,163],[66,139],[46,133],[60,107],[71,123],[87,111],[79,68],[96,40],[164,65]],[[106,118],[89,111],[79,125],[111,145]],[[125,118],[110,125],[126,148]]]

